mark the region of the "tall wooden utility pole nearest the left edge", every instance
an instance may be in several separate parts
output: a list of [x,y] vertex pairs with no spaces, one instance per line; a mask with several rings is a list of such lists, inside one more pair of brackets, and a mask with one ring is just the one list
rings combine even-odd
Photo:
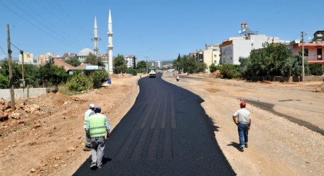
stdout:
[[11,111],[15,111],[15,94],[13,92],[13,69],[11,63],[11,42],[10,42],[10,31],[9,24],[7,24],[7,36],[8,36],[8,65],[9,65],[9,87],[11,95]]

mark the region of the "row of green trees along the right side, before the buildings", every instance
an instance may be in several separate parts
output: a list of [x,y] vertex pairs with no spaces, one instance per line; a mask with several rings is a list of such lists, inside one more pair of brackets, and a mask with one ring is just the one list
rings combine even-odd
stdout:
[[[209,66],[211,73],[220,70],[223,78],[243,78],[251,76],[300,76],[302,74],[302,58],[294,56],[292,51],[287,49],[285,44],[263,44],[263,49],[251,51],[247,58],[239,58],[240,65],[228,64]],[[204,72],[206,64],[197,61],[189,56],[177,56],[173,61],[176,70],[185,73]],[[308,64],[304,60],[305,75],[322,75],[321,64]]]

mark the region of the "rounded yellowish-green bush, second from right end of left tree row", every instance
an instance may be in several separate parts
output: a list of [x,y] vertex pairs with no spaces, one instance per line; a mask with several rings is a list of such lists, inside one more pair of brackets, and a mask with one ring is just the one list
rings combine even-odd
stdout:
[[74,75],[70,82],[68,82],[68,89],[70,91],[81,92],[87,89],[92,89],[93,83],[91,77],[86,77],[82,73]]

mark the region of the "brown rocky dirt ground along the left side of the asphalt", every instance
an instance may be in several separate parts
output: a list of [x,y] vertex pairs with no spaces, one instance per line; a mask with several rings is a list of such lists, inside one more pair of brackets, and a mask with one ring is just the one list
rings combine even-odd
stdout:
[[83,151],[89,104],[101,106],[113,130],[135,102],[138,78],[112,77],[110,86],[76,96],[20,99],[15,111],[20,119],[0,122],[0,175],[73,175],[91,155]]

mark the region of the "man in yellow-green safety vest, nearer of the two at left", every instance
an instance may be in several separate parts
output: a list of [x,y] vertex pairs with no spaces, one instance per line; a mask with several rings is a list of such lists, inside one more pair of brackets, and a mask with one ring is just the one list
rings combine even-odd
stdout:
[[104,158],[105,136],[109,139],[110,124],[106,115],[101,114],[100,106],[94,106],[94,115],[89,116],[87,123],[87,134],[91,139],[90,168],[101,168],[102,158]]

